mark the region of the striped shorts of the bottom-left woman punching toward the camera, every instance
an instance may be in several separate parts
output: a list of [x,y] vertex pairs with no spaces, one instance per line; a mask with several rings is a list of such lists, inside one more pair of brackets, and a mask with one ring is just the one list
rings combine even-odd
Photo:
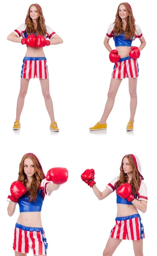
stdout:
[[15,225],[13,249],[19,253],[28,253],[31,248],[34,255],[47,254],[48,243],[43,228]]

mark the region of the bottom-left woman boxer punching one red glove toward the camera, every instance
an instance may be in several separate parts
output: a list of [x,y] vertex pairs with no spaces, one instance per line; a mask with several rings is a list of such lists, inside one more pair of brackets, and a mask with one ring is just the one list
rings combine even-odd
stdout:
[[14,214],[17,203],[20,207],[14,231],[15,256],[26,256],[30,248],[34,255],[47,254],[48,243],[41,221],[42,203],[45,195],[51,195],[59,189],[67,178],[68,171],[65,168],[52,168],[45,177],[34,154],[28,153],[22,157],[18,180],[11,184],[7,199],[9,216]]

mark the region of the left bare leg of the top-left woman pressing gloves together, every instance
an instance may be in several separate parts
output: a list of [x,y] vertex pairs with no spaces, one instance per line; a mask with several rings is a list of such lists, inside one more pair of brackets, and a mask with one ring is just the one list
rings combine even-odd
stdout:
[[17,99],[17,115],[16,120],[20,121],[20,115],[25,101],[30,79],[21,78],[20,93]]

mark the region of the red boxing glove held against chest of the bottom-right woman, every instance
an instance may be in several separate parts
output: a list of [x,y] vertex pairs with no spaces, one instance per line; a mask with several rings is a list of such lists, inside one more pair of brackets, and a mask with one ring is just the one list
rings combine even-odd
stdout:
[[123,198],[127,199],[129,202],[135,199],[134,195],[132,195],[132,186],[129,183],[123,183],[119,188],[116,190],[117,194]]

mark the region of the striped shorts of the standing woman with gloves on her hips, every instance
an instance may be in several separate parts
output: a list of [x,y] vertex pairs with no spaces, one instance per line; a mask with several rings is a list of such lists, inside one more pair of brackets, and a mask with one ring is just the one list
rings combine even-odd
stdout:
[[113,67],[113,79],[136,78],[139,75],[137,59],[130,57],[121,58]]

